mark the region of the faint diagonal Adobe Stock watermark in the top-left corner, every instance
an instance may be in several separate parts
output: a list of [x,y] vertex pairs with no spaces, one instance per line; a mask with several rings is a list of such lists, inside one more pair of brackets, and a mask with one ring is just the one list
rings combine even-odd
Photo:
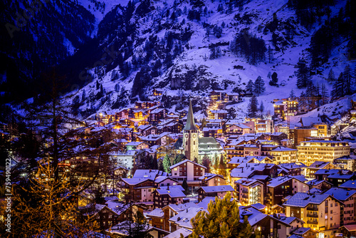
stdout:
[[[44,4],[47,4],[50,0],[42,0]],[[20,28],[23,28],[27,25],[27,21],[33,19],[36,13],[40,11],[43,7],[43,4],[40,0],[33,0],[30,6],[26,7],[23,10],[23,15],[16,12],[15,24],[10,24],[9,22],[5,24],[6,30],[9,32],[11,38],[14,37],[15,31],[20,31]]]

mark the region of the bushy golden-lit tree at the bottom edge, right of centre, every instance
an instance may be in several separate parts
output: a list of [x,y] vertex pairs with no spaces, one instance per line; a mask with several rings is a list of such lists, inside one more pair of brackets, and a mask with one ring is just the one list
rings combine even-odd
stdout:
[[[247,217],[240,222],[239,205],[231,200],[228,192],[224,198],[209,202],[207,211],[200,211],[191,219],[193,233],[191,238],[241,237],[261,238],[261,232],[253,232]],[[254,234],[253,234],[254,233]]]

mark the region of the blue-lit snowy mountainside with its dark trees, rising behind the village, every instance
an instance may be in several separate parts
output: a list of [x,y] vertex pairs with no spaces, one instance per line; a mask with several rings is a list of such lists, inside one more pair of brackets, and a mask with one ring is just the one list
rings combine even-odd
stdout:
[[[73,100],[80,102],[82,118],[137,99],[157,99],[152,97],[154,88],[164,91],[158,99],[172,110],[187,106],[179,98],[189,95],[195,110],[206,110],[212,89],[244,92],[247,82],[258,76],[266,85],[258,102],[265,107],[263,113],[273,114],[274,98],[288,97],[292,88],[295,95],[305,90],[296,88],[299,59],[311,65],[313,55],[312,81],[325,84],[329,93],[331,83],[325,78],[330,68],[336,76],[347,65],[355,68],[349,53],[352,38],[347,37],[351,33],[334,27],[335,22],[353,22],[352,1],[75,2],[91,14],[85,32],[92,39],[75,46],[73,56],[59,68],[74,89]],[[325,47],[314,37],[324,25],[335,30],[332,43],[325,46],[330,53],[323,53]],[[313,37],[318,47],[312,46]],[[273,72],[278,73],[278,87],[268,84]],[[227,108],[236,108],[244,118],[247,105],[245,98]]]

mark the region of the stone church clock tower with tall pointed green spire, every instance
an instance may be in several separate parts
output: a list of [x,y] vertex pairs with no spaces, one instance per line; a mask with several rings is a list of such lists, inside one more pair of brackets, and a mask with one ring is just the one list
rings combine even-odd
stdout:
[[194,115],[192,108],[192,101],[189,101],[189,110],[187,115],[187,124],[183,128],[183,143],[184,155],[188,160],[199,159],[198,150],[198,128],[194,123]]

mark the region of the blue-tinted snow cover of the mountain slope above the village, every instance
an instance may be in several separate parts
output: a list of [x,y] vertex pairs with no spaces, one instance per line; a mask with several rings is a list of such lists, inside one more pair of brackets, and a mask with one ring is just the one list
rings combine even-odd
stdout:
[[[99,24],[98,45],[102,52],[104,47],[112,47],[117,53],[112,60],[109,58],[110,63],[98,63],[89,70],[93,81],[76,92],[83,103],[80,110],[87,110],[83,116],[125,107],[132,98],[154,99],[150,97],[154,88],[163,90],[174,104],[176,95],[206,97],[211,89],[244,90],[246,83],[258,76],[266,84],[258,102],[263,102],[264,113],[272,114],[274,98],[288,97],[292,88],[296,95],[305,90],[295,86],[296,64],[299,58],[310,63],[313,33],[337,16],[346,1],[335,1],[329,16],[320,14],[315,23],[307,26],[301,24],[288,0],[254,0],[240,5],[229,1],[140,1],[129,5],[115,6]],[[197,12],[200,19],[194,15]],[[219,29],[221,36],[216,33]],[[241,32],[246,43],[251,36],[263,39],[266,48],[271,47],[271,61],[267,57],[251,64],[246,57],[231,53],[229,43]],[[325,83],[330,92],[331,85],[325,81],[330,68],[338,75],[346,65],[355,67],[355,62],[347,58],[347,42],[341,37],[328,62],[313,70],[315,85]],[[210,58],[211,48],[216,46],[221,53]],[[268,75],[273,72],[278,73],[279,87],[268,84]],[[247,105],[248,99],[234,105],[241,117]]]

